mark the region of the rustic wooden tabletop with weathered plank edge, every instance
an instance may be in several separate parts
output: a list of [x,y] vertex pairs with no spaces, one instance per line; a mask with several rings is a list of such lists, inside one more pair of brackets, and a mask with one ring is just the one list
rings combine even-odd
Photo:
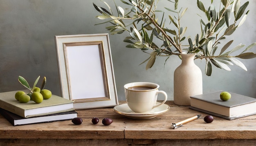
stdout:
[[[71,120],[12,126],[0,115],[0,146],[15,145],[256,145],[256,115],[235,120],[214,117],[212,123],[205,123],[207,114],[177,106],[172,101],[166,102],[171,109],[154,119],[130,119],[119,115],[113,108],[78,110],[78,117],[83,118],[81,125],[74,125]],[[200,119],[172,129],[171,123],[193,115],[202,114]],[[99,117],[100,122],[93,125],[92,117]],[[104,126],[104,117],[113,119],[113,123]]]

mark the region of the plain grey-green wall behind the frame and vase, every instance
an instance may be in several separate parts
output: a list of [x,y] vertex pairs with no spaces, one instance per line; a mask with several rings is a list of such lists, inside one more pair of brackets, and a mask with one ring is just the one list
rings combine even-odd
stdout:
[[[227,39],[234,39],[233,47],[256,42],[256,2],[248,1],[250,12],[246,22]],[[17,80],[19,75],[25,77],[29,84],[33,84],[40,75],[41,80],[43,76],[47,77],[46,88],[53,94],[61,95],[54,36],[108,33],[106,25],[94,26],[101,21],[95,18],[99,13],[92,2],[105,7],[100,0],[0,0],[0,92],[25,89]],[[113,0],[106,2],[113,6]],[[119,0],[116,3],[124,6]],[[158,8],[167,7],[166,3],[170,4],[162,0]],[[197,13],[202,13],[197,8],[196,0],[180,0],[180,5],[189,7],[182,23],[188,27],[186,36],[194,38],[196,33],[200,33]],[[166,25],[168,23],[166,19]],[[146,64],[139,64],[148,58],[148,54],[126,48],[123,42],[125,36],[127,34],[110,35],[119,100],[125,100],[124,84],[137,81],[159,84],[160,90],[166,91],[168,99],[173,100],[173,72],[181,60],[170,58],[164,66],[166,58],[158,58],[153,68],[146,71]],[[256,47],[251,51],[255,53]],[[248,71],[235,65],[230,66],[231,71],[213,67],[213,73],[208,77],[204,75],[205,61],[196,60],[203,74],[203,92],[226,90],[256,97],[256,59],[241,61]]]

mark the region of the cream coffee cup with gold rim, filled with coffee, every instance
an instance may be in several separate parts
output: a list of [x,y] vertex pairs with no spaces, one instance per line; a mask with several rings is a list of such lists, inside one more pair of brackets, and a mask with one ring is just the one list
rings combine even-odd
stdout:
[[[150,82],[132,82],[125,84],[124,91],[129,108],[135,113],[145,113],[164,104],[167,100],[167,94],[164,91],[159,91],[158,88],[158,84]],[[160,104],[156,104],[158,93],[164,94],[164,101]]]

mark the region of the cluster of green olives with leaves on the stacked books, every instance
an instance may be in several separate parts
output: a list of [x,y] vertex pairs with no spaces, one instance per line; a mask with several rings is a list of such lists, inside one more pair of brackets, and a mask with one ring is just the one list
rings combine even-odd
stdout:
[[20,103],[27,103],[30,100],[33,100],[34,102],[39,104],[39,103],[43,102],[43,100],[47,100],[50,97],[52,97],[52,92],[45,89],[46,77],[43,78],[43,83],[42,83],[41,88],[36,86],[39,79],[40,79],[40,76],[38,76],[36,78],[34,85],[32,87],[30,87],[27,80],[24,77],[19,76],[18,81],[20,82],[20,84],[22,84],[27,89],[29,89],[30,92],[25,93],[24,91],[18,91],[15,94],[15,99],[18,100]]

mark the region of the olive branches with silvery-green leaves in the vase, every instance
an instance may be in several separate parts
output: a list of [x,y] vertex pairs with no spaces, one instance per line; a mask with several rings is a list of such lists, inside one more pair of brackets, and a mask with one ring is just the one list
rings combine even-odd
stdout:
[[[179,55],[180,57],[180,53],[196,53],[195,59],[206,60],[206,75],[211,75],[211,64],[227,71],[231,70],[228,65],[236,64],[247,71],[245,65],[236,58],[255,58],[255,53],[245,51],[251,49],[256,43],[247,46],[242,53],[235,56],[230,54],[240,50],[245,45],[238,44],[231,51],[227,51],[233,42],[230,40],[222,46],[220,53],[216,54],[216,50],[225,36],[234,33],[245,22],[249,12],[249,10],[246,11],[249,2],[240,4],[240,0],[221,0],[220,9],[217,11],[215,7],[212,7],[213,0],[211,0],[211,6],[208,9],[204,7],[201,1],[197,0],[197,6],[204,12],[207,21],[200,19],[201,32],[194,38],[186,38],[184,34],[187,27],[182,27],[180,20],[188,8],[178,8],[178,0],[167,1],[174,6],[173,9],[164,7],[170,12],[168,26],[165,25],[164,12],[156,9],[159,0],[121,0],[128,8],[124,9],[115,4],[117,15],[113,14],[113,10],[106,2],[104,3],[107,9],[96,4],[93,5],[101,13],[97,18],[107,19],[107,21],[99,24],[108,22],[111,24],[106,27],[111,34],[121,34],[125,31],[129,33],[129,36],[124,39],[124,42],[129,43],[126,47],[138,48],[145,53],[148,53],[146,50],[152,50],[149,53],[150,57],[144,61],[147,62],[146,69],[153,66],[158,56],[167,56],[168,59],[171,55]],[[162,13],[161,20],[156,18],[156,13]],[[168,29],[167,27],[175,29]],[[159,45],[159,42],[162,44]]]

